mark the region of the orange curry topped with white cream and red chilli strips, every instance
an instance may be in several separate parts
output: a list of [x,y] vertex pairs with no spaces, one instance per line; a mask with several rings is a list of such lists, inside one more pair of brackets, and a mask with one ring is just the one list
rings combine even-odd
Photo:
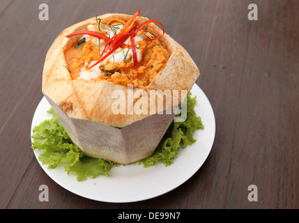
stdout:
[[[70,33],[67,38],[83,35],[65,52],[72,79],[86,79],[133,84],[146,87],[164,68],[169,52],[159,40],[164,35],[162,24],[148,20],[139,24],[137,10],[127,22],[112,19],[106,24],[89,24],[87,31]],[[151,22],[160,24],[162,36],[154,37],[144,31]]]

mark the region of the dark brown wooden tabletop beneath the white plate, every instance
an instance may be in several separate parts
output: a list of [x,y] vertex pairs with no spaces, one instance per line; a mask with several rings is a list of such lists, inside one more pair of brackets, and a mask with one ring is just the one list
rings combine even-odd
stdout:
[[[39,5],[49,20],[39,20]],[[258,20],[248,20],[250,3]],[[47,49],[62,29],[104,13],[164,24],[199,66],[216,118],[212,151],[190,180],[154,199],[105,203],[40,168],[30,128]],[[0,208],[299,208],[299,1],[1,0]],[[49,187],[41,202],[39,186]],[[256,185],[258,201],[247,199]]]

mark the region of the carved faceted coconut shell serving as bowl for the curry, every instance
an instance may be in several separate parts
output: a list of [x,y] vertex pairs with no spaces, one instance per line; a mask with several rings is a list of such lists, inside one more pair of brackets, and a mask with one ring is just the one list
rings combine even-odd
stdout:
[[[124,14],[100,16],[104,23],[112,18],[128,21],[130,17]],[[139,22],[146,20],[145,17],[139,17]],[[70,139],[86,155],[129,164],[149,157],[155,151],[174,120],[174,107],[179,107],[185,99],[199,77],[199,69],[185,49],[165,33],[160,42],[169,52],[169,60],[148,86],[131,89],[113,82],[74,80],[65,67],[65,52],[77,43],[80,36],[66,38],[66,35],[86,30],[94,22],[95,17],[72,25],[54,40],[45,59],[43,94]],[[153,23],[144,29],[153,36],[162,35],[162,30]],[[170,101],[165,100],[166,90],[170,92]],[[177,101],[174,100],[174,90],[181,92]],[[124,93],[125,114],[113,111],[116,100],[121,100],[121,97],[113,95],[119,91]],[[140,96],[140,92],[147,96],[143,98],[143,102],[148,102],[147,112],[136,112],[135,105],[140,103],[140,97],[129,100],[130,95],[139,93]],[[151,102],[151,92],[164,95],[162,107],[158,105],[158,100]]]

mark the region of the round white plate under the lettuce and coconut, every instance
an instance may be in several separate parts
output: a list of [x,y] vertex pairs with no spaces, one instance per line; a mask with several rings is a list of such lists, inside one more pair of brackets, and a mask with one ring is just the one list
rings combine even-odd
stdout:
[[[215,138],[215,116],[208,98],[203,91],[194,84],[191,89],[192,96],[197,96],[195,112],[201,116],[204,130],[197,130],[194,139],[197,141],[192,146],[181,149],[174,163],[169,167],[159,163],[153,167],[144,168],[143,165],[129,164],[113,167],[110,176],[99,176],[86,181],[78,182],[75,175],[68,175],[64,167],[47,169],[46,164],[38,160],[40,152],[34,150],[40,166],[56,183],[66,190],[79,196],[113,203],[133,202],[151,199],[165,194],[185,183],[204,164]],[[51,118],[47,113],[51,108],[45,97],[40,101],[33,116],[32,130],[40,122]]]

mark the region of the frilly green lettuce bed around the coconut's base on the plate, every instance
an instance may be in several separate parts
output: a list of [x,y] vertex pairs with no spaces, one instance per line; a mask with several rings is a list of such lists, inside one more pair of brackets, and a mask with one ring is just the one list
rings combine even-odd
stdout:
[[[135,164],[143,164],[147,168],[162,162],[165,166],[169,166],[178,156],[179,148],[194,144],[196,141],[193,138],[194,132],[204,129],[201,118],[194,112],[195,102],[196,97],[192,98],[188,94],[186,120],[181,123],[171,123],[153,155]],[[79,147],[72,143],[54,110],[49,109],[48,112],[52,114],[52,118],[36,126],[31,137],[32,148],[41,152],[38,159],[42,164],[47,164],[48,168],[64,165],[66,172],[75,174],[78,181],[86,180],[87,177],[109,176],[112,167],[121,165],[110,160],[84,155]]]

